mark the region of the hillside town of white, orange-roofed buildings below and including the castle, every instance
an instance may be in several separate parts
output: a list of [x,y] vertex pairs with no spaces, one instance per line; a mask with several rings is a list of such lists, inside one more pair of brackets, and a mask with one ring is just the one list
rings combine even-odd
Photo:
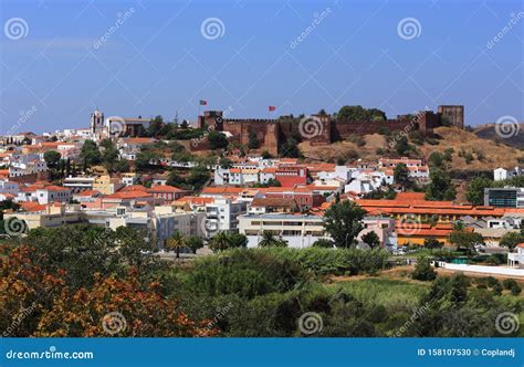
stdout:
[[[297,249],[382,248],[392,256],[465,247],[501,255],[494,273],[518,275],[524,168],[496,167],[490,178],[465,179],[470,200],[459,202],[447,172],[453,151],[423,157],[411,145],[437,139],[439,126],[464,129],[463,106],[395,120],[360,106],[273,120],[207,111],[196,123],[105,117],[96,109],[86,128],[0,138],[2,232],[128,227],[144,230],[153,251],[164,255],[176,235],[201,239],[198,255],[223,233],[245,237],[248,248],[280,241]],[[388,140],[376,160],[355,154],[315,161],[298,146],[347,139],[363,146],[371,134]],[[344,202],[363,210],[350,243],[326,229],[326,213]],[[460,243],[457,233],[472,238]],[[195,255],[188,251],[181,249],[182,258]]]

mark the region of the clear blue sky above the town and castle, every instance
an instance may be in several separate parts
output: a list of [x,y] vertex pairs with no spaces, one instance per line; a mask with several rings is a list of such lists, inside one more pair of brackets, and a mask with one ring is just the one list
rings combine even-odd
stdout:
[[[231,117],[463,104],[469,125],[522,120],[523,11],[504,0],[3,0],[0,133],[86,127],[96,106],[193,120],[199,99]],[[206,20],[219,32],[202,33]]]

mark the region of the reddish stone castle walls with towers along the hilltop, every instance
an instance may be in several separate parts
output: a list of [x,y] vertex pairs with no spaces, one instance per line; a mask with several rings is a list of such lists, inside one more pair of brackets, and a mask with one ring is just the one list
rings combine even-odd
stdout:
[[279,147],[292,137],[300,137],[312,145],[327,145],[347,139],[354,134],[375,134],[384,132],[418,130],[423,136],[431,136],[433,128],[441,126],[443,119],[451,126],[464,127],[463,106],[439,106],[438,113],[421,111],[416,116],[397,116],[386,120],[337,120],[329,115],[314,115],[301,119],[233,119],[223,118],[221,111],[206,111],[198,116],[198,127],[210,127],[218,132],[229,132],[232,140],[248,144],[250,136],[255,135],[262,150],[271,155],[279,154]]

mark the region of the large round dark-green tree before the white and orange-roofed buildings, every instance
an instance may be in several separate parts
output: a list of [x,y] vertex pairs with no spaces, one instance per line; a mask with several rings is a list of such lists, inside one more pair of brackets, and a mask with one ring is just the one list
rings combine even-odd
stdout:
[[332,205],[324,216],[324,227],[337,247],[349,248],[363,230],[361,219],[366,211],[354,201]]

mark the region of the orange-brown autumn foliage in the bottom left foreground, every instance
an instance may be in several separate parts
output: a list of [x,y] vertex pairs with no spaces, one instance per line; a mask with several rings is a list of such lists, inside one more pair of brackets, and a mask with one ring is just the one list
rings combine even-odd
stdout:
[[[125,277],[94,274],[92,286],[67,285],[67,271],[50,274],[33,263],[35,248],[3,247],[0,258],[0,328],[4,336],[211,336],[207,322],[196,323],[165,297],[158,282],[144,283],[136,268]],[[104,324],[118,312],[125,327]],[[107,333],[116,331],[115,334]],[[7,335],[6,335],[7,333]]]

